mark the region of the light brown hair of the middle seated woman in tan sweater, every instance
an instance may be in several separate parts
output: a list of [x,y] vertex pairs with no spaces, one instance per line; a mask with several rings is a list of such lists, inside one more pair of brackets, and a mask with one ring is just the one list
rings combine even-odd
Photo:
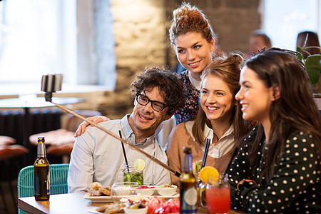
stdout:
[[[235,94],[238,93],[240,89],[239,80],[240,80],[240,70],[243,66],[244,58],[243,54],[239,52],[232,52],[228,55],[218,56],[213,59],[213,62],[208,65],[202,75],[201,75],[201,86],[203,85],[203,80],[206,76],[215,75],[221,78],[225,83],[228,84],[228,88],[233,94],[233,101],[235,105],[233,106],[233,113],[230,118],[230,125],[233,124],[235,132],[235,142],[239,145],[239,140],[250,131],[249,127],[246,125],[245,121],[242,118],[242,111],[240,103],[235,100]],[[205,136],[203,129],[205,124],[211,127],[210,120],[206,117],[203,108],[199,108],[198,114],[195,117],[195,123],[193,124],[192,133],[195,138],[195,142],[200,145],[205,144]]]

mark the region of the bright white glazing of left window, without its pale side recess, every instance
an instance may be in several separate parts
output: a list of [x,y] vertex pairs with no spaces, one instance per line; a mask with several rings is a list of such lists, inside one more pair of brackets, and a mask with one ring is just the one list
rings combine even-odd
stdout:
[[[65,14],[60,12],[66,8],[63,1],[15,0],[0,3],[1,82],[36,83],[46,73],[75,72],[76,16],[70,7],[65,13],[69,21],[64,22],[61,16]],[[64,32],[66,29],[68,32]],[[68,38],[63,33],[69,35]]]

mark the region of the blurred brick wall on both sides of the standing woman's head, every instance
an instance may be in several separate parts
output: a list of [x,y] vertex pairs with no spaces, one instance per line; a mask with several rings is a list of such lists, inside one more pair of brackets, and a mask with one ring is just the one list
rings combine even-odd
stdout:
[[[110,118],[131,113],[133,102],[128,86],[136,73],[146,67],[172,68],[177,59],[168,42],[168,26],[173,9],[181,1],[110,0],[117,83],[116,91],[106,92],[98,108]],[[209,17],[218,45],[223,51],[248,51],[250,33],[260,28],[260,0],[191,0]]]

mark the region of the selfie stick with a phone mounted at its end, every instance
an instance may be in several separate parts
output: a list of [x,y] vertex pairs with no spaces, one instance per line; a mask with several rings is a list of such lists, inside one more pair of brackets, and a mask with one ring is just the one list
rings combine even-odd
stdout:
[[63,111],[66,111],[68,113],[73,114],[74,116],[76,116],[78,118],[81,118],[83,121],[86,121],[87,123],[91,124],[92,126],[96,126],[97,128],[101,129],[101,131],[104,131],[105,133],[108,133],[109,135],[111,135],[114,138],[118,139],[122,143],[125,143],[127,146],[133,148],[134,150],[136,150],[136,151],[138,151],[140,153],[143,153],[143,155],[145,155],[147,158],[151,159],[151,161],[154,161],[155,163],[158,163],[158,165],[161,165],[166,170],[169,170],[170,173],[173,173],[173,175],[175,175],[177,177],[180,177],[180,173],[178,173],[177,171],[173,170],[168,165],[166,165],[165,163],[159,161],[157,158],[151,156],[150,154],[146,153],[145,151],[141,150],[140,148],[137,148],[135,145],[129,143],[125,139],[120,138],[116,134],[112,133],[111,131],[106,130],[106,128],[103,128],[103,127],[99,126],[98,124],[93,123],[92,121],[89,121],[88,119],[84,118],[83,116],[79,115],[78,113],[75,113],[75,112],[71,111],[69,108],[66,108],[65,106],[61,106],[60,104],[54,103],[53,101],[51,101],[52,93],[54,93],[56,91],[61,91],[62,78],[63,78],[62,74],[49,74],[49,75],[42,76],[41,91],[44,91],[46,93],[45,94],[45,98],[46,98],[47,102],[51,102],[55,106],[57,106],[58,108],[61,108]]

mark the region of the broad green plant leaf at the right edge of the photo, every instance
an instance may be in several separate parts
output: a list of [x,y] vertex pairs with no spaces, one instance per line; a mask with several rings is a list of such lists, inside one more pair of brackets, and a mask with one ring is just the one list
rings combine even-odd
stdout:
[[314,54],[311,56],[307,56],[307,60],[305,61],[305,68],[307,68],[307,73],[309,74],[311,84],[313,85],[317,83],[321,72],[321,55]]

